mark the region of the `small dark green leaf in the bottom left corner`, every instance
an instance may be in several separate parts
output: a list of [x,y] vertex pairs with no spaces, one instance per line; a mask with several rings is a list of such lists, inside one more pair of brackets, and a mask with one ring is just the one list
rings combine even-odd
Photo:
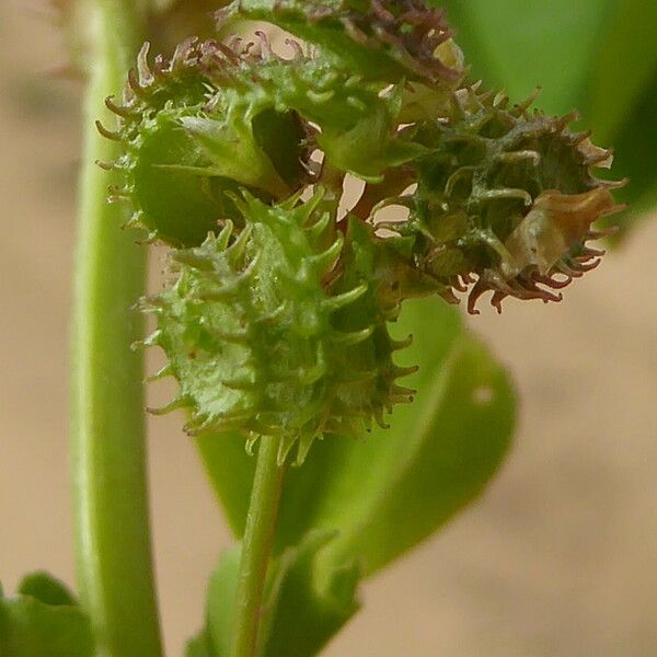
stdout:
[[0,590],[2,657],[91,657],[89,619],[68,589],[44,573],[23,579],[19,595]]

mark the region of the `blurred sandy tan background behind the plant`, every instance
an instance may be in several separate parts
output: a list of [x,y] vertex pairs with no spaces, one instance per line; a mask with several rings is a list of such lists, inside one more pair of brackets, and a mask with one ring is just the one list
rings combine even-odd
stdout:
[[[36,568],[74,581],[67,342],[81,85],[58,74],[66,61],[43,4],[1,0],[8,591]],[[645,129],[644,141],[655,140],[654,124]],[[471,320],[518,384],[515,449],[477,504],[366,585],[364,610],[327,657],[657,654],[656,249],[657,222],[644,221],[561,304],[511,300],[502,316],[483,309]],[[163,626],[177,656],[200,626],[207,576],[231,538],[178,418],[151,419],[150,452]]]

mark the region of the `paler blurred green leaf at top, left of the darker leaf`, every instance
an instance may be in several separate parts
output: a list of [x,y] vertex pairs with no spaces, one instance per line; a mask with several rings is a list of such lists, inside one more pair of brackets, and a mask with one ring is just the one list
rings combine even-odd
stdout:
[[445,7],[457,42],[485,84],[521,100],[544,89],[549,112],[578,105],[600,33],[619,0],[429,0]]

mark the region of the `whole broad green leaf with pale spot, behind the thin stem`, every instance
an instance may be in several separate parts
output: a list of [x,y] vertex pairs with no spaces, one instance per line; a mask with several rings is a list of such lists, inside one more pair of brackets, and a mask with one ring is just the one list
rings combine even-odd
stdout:
[[[325,552],[332,555],[324,557],[327,564],[358,558],[373,573],[471,502],[506,454],[512,387],[458,312],[441,300],[416,301],[399,324],[396,337],[415,335],[402,365],[422,366],[408,382],[418,391],[415,402],[395,410],[390,429],[377,429],[366,440],[328,436],[301,468],[289,470],[277,554],[313,529],[337,530]],[[244,439],[207,437],[200,445],[231,527],[241,535],[253,468]]]

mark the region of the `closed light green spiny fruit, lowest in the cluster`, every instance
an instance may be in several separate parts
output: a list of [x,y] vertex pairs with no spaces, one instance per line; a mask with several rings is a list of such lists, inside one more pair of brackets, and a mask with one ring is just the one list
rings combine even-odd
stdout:
[[143,300],[158,316],[145,344],[165,351],[160,376],[180,384],[162,411],[188,407],[189,434],[280,436],[280,459],[298,445],[301,461],[314,438],[358,434],[359,420],[382,424],[407,401],[395,383],[407,372],[391,359],[400,345],[369,308],[370,263],[336,268],[345,240],[321,200],[235,199],[243,227],[227,221],[175,251],[175,285]]

